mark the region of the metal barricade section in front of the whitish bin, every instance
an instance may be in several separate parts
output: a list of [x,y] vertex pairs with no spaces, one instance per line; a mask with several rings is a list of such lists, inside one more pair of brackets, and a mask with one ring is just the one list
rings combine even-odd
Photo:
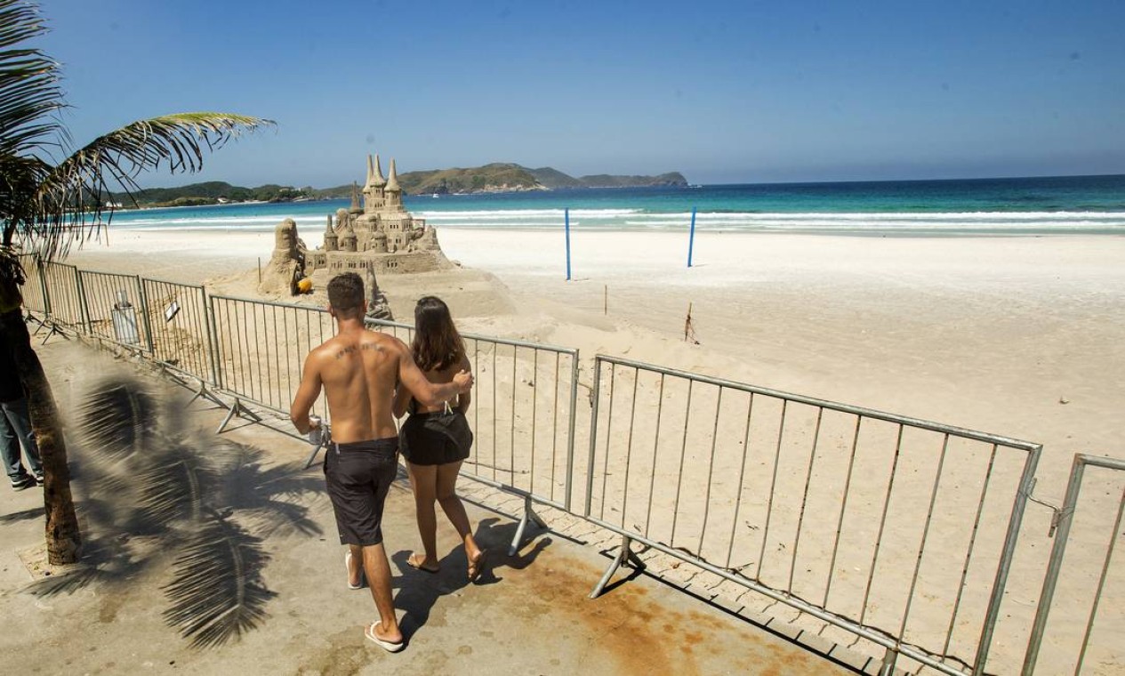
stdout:
[[152,333],[141,278],[79,270],[86,333],[140,352],[152,352]]

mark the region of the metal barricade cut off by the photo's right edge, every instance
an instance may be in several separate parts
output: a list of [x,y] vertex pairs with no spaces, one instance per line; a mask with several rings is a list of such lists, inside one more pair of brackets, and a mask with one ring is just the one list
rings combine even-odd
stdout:
[[[1087,468],[1109,471],[1087,476]],[[1117,542],[1125,537],[1123,508],[1125,460],[1074,456],[1066,497],[1052,523],[1052,530],[1058,530],[1024,659],[1024,676],[1036,672],[1080,674],[1087,663],[1104,667],[1095,673],[1110,674],[1125,661],[1125,568],[1113,564]],[[1072,553],[1069,559],[1068,550]],[[1052,611],[1056,619],[1047,631]]]

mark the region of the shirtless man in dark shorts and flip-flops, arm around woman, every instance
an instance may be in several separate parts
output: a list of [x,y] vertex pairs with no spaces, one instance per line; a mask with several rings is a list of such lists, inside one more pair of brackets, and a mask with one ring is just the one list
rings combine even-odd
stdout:
[[468,391],[472,375],[462,370],[452,382],[430,382],[402,341],[363,327],[366,312],[363,280],[354,272],[332,278],[328,313],[336,319],[336,335],[308,353],[289,417],[298,432],[307,434],[313,429],[309,409],[324,387],[332,416],[324,476],[340,543],[349,546],[344,555],[348,586],[359,589],[367,574],[379,621],[364,634],[395,652],[403,648],[403,633],[395,616],[380,524],[382,504],[398,469],[398,432],[392,416],[395,386],[400,382],[425,406],[441,406]]

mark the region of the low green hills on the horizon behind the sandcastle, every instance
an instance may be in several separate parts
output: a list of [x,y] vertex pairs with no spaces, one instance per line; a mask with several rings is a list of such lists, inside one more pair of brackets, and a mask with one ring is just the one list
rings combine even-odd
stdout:
[[[557,188],[637,188],[646,186],[686,187],[687,180],[680,172],[659,175],[594,174],[574,178],[550,166],[528,169],[511,162],[494,162],[469,169],[435,169],[410,171],[398,174],[398,183],[407,195],[447,195],[467,192],[519,192],[522,190],[555,190]],[[362,183],[360,183],[362,188]],[[307,199],[350,199],[352,186],[335,188],[294,188],[269,183],[258,188],[242,188],[223,181],[191,183],[179,188],[146,188],[134,193],[143,207],[198,206],[226,201],[292,201]],[[124,193],[111,200],[133,206]]]

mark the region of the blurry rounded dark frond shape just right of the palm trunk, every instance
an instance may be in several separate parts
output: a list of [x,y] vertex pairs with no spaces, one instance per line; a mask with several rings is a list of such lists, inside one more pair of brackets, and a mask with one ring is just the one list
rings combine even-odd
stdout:
[[160,405],[135,379],[110,378],[96,384],[79,404],[78,417],[87,447],[111,462],[158,445]]

